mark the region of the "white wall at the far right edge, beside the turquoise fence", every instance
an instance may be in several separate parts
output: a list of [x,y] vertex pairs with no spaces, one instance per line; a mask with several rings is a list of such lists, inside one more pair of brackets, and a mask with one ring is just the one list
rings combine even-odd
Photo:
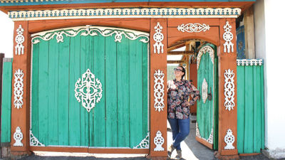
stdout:
[[254,4],[256,58],[264,59],[265,146],[271,158],[285,157],[284,0]]

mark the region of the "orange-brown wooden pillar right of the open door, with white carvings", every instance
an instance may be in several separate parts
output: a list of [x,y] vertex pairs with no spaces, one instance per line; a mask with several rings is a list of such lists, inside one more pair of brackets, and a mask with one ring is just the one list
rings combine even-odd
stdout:
[[237,152],[237,42],[234,18],[219,19],[218,159],[239,159]]

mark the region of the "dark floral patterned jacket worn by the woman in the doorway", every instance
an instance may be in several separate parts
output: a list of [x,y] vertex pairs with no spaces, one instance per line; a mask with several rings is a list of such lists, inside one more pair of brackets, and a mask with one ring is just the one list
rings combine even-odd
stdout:
[[[188,80],[169,80],[167,82],[167,117],[170,119],[187,119],[190,106],[187,105],[189,96],[196,97],[199,90]],[[194,105],[196,100],[190,100]]]

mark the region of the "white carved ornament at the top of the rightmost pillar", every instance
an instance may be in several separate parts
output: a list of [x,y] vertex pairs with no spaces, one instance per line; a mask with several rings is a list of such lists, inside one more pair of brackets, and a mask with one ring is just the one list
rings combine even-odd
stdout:
[[223,34],[224,41],[224,52],[234,52],[234,43],[232,43],[232,39],[234,38],[234,35],[231,32],[232,26],[229,25],[229,22],[227,21],[226,25],[224,25],[224,31]]

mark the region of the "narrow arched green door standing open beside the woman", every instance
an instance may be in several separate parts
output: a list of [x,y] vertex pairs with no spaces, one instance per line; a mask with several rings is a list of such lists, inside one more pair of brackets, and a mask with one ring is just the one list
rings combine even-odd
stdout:
[[196,139],[210,149],[217,149],[217,53],[206,44],[197,55],[197,87],[201,98],[197,102]]

